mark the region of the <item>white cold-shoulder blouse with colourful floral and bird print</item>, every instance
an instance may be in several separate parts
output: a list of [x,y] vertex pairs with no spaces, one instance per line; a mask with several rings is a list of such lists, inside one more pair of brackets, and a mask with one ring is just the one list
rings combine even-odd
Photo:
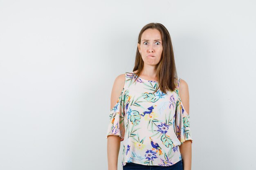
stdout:
[[123,141],[122,166],[126,162],[142,165],[172,166],[182,159],[180,146],[191,140],[190,115],[178,93],[163,93],[158,82],[125,73],[124,88],[109,115],[108,135]]

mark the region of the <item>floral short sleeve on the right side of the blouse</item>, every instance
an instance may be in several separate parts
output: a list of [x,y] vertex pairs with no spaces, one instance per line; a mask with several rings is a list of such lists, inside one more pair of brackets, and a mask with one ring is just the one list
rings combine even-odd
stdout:
[[180,78],[178,80],[178,88],[177,88],[177,104],[176,104],[176,111],[175,111],[175,132],[177,138],[180,140],[180,143],[183,144],[184,141],[191,140],[193,143],[193,139],[191,136],[191,129],[190,129],[190,115],[184,109],[182,101],[179,95],[179,83]]

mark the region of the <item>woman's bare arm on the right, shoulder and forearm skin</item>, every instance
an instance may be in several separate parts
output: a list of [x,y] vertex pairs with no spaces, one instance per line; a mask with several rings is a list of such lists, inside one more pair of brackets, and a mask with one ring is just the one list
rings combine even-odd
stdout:
[[[189,86],[184,80],[180,80],[179,95],[186,110],[189,115]],[[192,158],[192,146],[191,140],[184,141],[180,145],[180,153],[182,156],[183,170],[191,170],[191,158]]]

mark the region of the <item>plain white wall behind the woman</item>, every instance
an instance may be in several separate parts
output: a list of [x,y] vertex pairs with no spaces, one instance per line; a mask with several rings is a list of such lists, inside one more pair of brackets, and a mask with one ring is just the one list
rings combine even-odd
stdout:
[[192,170],[255,170],[255,8],[0,0],[0,169],[107,170],[113,82],[132,71],[141,28],[159,22],[189,84]]

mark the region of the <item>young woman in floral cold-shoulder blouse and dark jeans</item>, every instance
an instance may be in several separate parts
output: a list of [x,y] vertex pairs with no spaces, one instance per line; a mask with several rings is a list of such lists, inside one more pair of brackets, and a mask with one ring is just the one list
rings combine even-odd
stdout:
[[191,170],[188,84],[177,77],[168,30],[144,26],[132,72],[119,75],[111,94],[108,170]]

